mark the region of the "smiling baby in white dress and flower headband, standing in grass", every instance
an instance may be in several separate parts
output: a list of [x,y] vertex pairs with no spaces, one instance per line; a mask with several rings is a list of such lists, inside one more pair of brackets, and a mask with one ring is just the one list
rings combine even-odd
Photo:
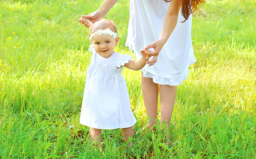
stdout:
[[130,98],[123,66],[139,70],[145,66],[149,50],[141,51],[141,58],[133,61],[130,55],[119,54],[114,47],[119,41],[115,24],[111,20],[90,23],[90,51],[92,58],[87,68],[80,123],[90,127],[90,137],[101,141],[102,129],[122,128],[125,141],[134,134],[136,119],[131,112]]

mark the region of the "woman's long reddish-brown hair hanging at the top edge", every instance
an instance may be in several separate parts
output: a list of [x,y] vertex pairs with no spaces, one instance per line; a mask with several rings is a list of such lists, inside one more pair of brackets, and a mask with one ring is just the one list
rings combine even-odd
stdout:
[[[172,0],[164,0],[165,2],[171,2]],[[204,0],[182,0],[181,14],[185,18],[183,22],[189,19],[189,15],[194,13],[198,8],[198,5],[203,5]],[[183,23],[182,22],[182,23]]]

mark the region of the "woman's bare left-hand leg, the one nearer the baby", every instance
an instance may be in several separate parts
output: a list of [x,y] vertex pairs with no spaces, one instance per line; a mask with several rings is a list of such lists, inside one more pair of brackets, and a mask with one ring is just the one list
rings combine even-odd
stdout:
[[141,88],[145,103],[146,113],[149,118],[148,128],[151,128],[157,119],[159,84],[153,82],[152,78],[141,75]]

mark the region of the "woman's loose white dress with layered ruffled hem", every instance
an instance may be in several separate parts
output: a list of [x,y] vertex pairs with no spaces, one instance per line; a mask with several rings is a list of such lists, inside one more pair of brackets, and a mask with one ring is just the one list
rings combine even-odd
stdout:
[[[163,0],[130,0],[130,20],[125,46],[141,56],[140,50],[158,40],[169,3]],[[180,14],[177,25],[153,66],[146,65],[143,75],[154,83],[177,86],[187,79],[189,66],[196,62],[191,41],[192,15],[184,23]]]

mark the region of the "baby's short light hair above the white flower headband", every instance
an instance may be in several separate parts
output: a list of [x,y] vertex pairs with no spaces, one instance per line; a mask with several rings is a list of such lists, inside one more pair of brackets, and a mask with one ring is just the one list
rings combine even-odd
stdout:
[[117,33],[116,24],[112,20],[101,19],[93,24],[90,29],[89,36],[97,30],[110,29],[112,32]]

